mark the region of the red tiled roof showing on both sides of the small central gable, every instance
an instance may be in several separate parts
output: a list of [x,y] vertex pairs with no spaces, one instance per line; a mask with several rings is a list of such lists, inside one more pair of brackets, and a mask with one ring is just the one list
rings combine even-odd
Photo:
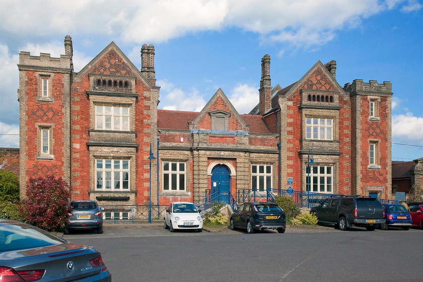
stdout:
[[[189,130],[188,122],[192,122],[198,114],[199,112],[157,110],[157,128]],[[261,115],[242,114],[240,116],[247,125],[250,125],[250,133],[274,133]]]

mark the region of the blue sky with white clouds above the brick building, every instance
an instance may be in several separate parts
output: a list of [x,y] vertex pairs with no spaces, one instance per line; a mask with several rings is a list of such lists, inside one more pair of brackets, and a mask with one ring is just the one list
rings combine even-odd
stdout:
[[[336,60],[340,86],[392,83],[392,160],[423,157],[423,3],[417,0],[2,0],[0,147],[19,146],[20,51],[53,57],[73,39],[79,72],[114,41],[140,68],[155,46],[161,109],[199,111],[222,88],[239,113],[258,103],[261,57],[272,86]],[[45,7],[49,7],[45,9]]]

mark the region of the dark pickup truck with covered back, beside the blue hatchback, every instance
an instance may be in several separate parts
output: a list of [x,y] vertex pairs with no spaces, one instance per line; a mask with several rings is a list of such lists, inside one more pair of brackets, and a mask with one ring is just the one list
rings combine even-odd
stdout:
[[376,198],[354,195],[330,196],[312,207],[310,213],[316,213],[319,223],[333,223],[340,230],[355,225],[373,231],[386,221],[383,206]]

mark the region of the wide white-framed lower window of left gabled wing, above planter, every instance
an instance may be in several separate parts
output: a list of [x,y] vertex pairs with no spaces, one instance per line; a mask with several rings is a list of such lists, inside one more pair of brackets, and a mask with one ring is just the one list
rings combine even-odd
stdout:
[[129,190],[129,160],[96,159],[96,190]]

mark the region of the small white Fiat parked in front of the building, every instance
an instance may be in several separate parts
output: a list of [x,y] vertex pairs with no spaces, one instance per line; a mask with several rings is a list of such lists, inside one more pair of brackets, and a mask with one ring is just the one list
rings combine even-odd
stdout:
[[172,202],[165,214],[165,229],[170,232],[176,229],[193,229],[202,231],[201,210],[190,202]]

